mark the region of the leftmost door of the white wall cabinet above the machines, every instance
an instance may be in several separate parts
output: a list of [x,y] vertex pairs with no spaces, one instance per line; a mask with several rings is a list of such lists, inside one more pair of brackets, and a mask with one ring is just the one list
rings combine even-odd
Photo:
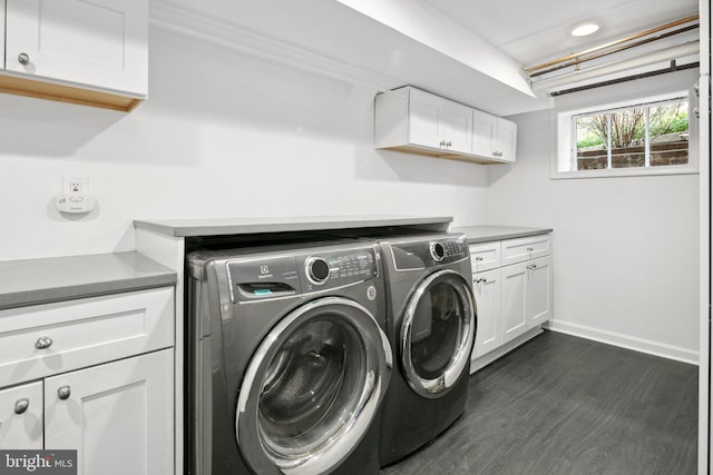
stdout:
[[440,148],[443,99],[418,89],[409,92],[409,142]]

